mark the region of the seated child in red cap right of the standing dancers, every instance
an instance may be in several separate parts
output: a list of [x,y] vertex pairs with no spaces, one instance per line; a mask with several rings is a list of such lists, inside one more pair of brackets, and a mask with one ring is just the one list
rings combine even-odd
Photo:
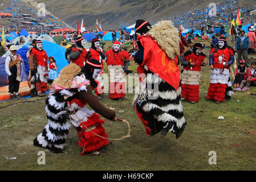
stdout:
[[235,79],[234,79],[234,88],[237,90],[239,88],[241,82],[243,80],[246,80],[249,76],[249,68],[245,64],[245,60],[241,60],[239,62],[239,66],[237,67],[237,70],[235,71]]

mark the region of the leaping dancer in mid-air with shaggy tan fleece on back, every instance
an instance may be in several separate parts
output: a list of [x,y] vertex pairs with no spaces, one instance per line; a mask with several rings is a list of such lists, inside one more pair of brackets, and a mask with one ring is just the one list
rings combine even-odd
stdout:
[[[161,21],[151,28],[145,20],[136,21],[138,52],[134,59],[139,67],[140,83],[133,106],[143,122],[146,134],[168,131],[179,138],[186,121],[180,101],[180,36],[170,21]],[[149,30],[150,29],[150,30]]]

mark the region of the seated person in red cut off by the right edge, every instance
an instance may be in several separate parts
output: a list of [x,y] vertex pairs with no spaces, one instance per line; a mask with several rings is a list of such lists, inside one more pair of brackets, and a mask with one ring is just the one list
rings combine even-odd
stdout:
[[256,61],[251,63],[251,71],[249,74],[249,77],[241,82],[241,85],[237,90],[246,91],[250,85],[256,86]]

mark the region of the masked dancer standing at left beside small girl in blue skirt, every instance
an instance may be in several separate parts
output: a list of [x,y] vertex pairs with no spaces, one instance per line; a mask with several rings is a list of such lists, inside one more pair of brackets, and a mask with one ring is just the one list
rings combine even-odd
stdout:
[[42,40],[36,40],[35,44],[36,47],[32,48],[29,54],[31,96],[43,97],[48,89],[48,56],[46,51],[43,50]]

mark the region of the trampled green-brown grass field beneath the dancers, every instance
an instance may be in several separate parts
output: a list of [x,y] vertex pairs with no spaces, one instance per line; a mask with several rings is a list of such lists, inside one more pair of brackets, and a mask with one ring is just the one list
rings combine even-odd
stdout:
[[[209,56],[210,43],[204,43],[208,48],[203,52]],[[251,61],[256,61],[255,56],[250,55]],[[134,62],[129,69],[136,71]],[[46,97],[1,102],[0,170],[256,170],[256,96],[250,94],[256,93],[256,87],[235,92],[231,100],[215,104],[206,100],[209,64],[201,73],[200,101],[182,101],[188,125],[179,139],[172,133],[162,139],[160,134],[145,135],[143,123],[132,108],[133,94],[127,94],[122,101],[109,100],[108,94],[104,94],[101,102],[130,123],[131,138],[110,140],[103,156],[79,156],[82,149],[78,148],[74,128],[68,134],[63,154],[32,145],[47,123]],[[219,115],[225,119],[218,120]],[[123,122],[105,119],[104,127],[109,138],[120,138],[128,132]],[[46,152],[45,165],[38,164],[39,151]],[[210,151],[216,151],[216,165],[208,163]]]

